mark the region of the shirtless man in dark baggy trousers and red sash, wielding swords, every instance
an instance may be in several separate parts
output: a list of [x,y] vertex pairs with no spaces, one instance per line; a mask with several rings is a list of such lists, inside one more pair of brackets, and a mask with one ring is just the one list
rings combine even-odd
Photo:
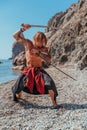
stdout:
[[37,32],[33,37],[33,42],[22,37],[22,33],[31,28],[29,24],[23,24],[13,37],[25,47],[26,68],[12,87],[13,100],[18,101],[21,91],[32,94],[49,94],[53,106],[57,106],[56,97],[58,96],[56,86],[52,78],[44,70],[43,64],[50,64],[51,57],[46,47],[47,39],[43,32]]

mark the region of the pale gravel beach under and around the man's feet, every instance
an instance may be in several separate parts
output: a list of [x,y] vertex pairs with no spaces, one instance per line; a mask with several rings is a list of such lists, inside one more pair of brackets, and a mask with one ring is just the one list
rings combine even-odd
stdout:
[[87,130],[87,69],[61,66],[46,69],[56,83],[58,104],[53,109],[49,95],[23,93],[19,103],[12,101],[11,86],[15,81],[0,84],[0,130]]

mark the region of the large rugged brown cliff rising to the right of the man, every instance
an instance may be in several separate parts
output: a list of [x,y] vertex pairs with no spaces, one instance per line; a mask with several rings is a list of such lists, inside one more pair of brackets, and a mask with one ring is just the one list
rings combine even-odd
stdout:
[[71,62],[80,69],[87,67],[87,0],[53,16],[48,21],[46,36],[53,63]]

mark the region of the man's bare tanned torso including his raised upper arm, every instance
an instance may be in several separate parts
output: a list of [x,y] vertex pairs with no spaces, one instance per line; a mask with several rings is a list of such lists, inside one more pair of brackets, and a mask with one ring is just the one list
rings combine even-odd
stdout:
[[[32,41],[25,39],[20,36],[21,32],[18,31],[14,34],[14,38],[24,44],[25,47],[25,57],[26,57],[26,66],[27,67],[42,67],[43,58],[39,56],[39,51],[47,53],[47,48],[35,48]],[[46,57],[45,57],[46,58]]]

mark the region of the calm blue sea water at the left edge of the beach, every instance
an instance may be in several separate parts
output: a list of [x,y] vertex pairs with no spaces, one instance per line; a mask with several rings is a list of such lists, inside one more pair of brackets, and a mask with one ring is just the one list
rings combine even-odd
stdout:
[[8,82],[17,79],[19,76],[18,71],[12,70],[12,60],[0,60],[0,83]]

